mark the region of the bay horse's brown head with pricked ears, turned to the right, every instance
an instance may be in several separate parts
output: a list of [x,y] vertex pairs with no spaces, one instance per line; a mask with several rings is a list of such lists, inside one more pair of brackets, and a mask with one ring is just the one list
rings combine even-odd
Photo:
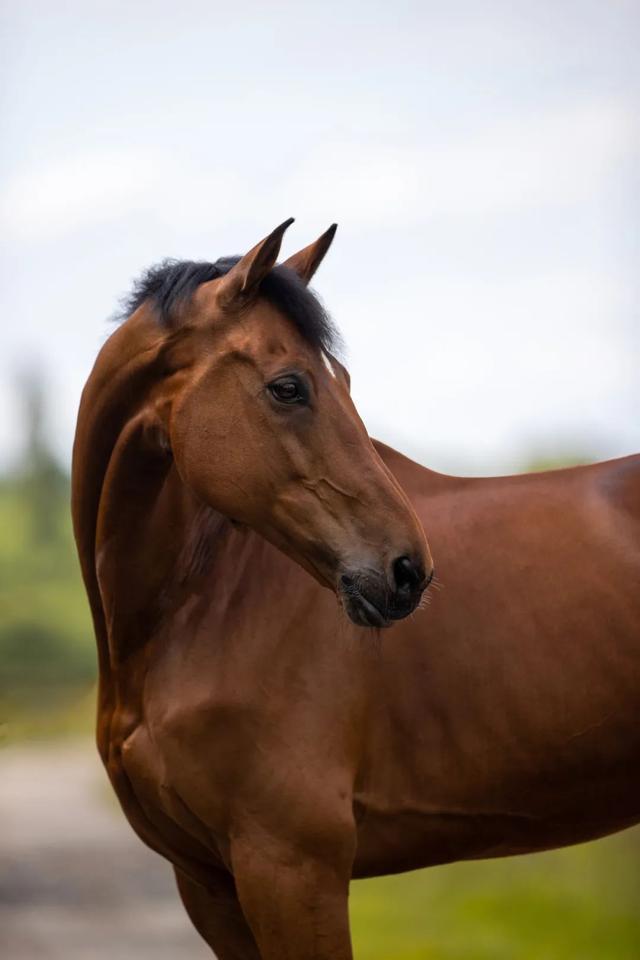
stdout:
[[276,267],[290,222],[183,303],[164,351],[168,442],[204,501],[335,590],[355,623],[386,626],[417,606],[431,557],[306,286],[335,227]]

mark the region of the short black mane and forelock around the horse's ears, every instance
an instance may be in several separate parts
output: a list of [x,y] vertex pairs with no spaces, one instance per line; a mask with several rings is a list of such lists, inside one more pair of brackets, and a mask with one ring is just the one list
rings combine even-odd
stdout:
[[[163,260],[150,267],[133,285],[124,300],[121,319],[126,320],[149,302],[158,323],[167,328],[180,322],[182,309],[201,283],[228,273],[239,257],[221,257],[215,263],[193,260]],[[276,266],[260,285],[260,294],[295,323],[305,340],[328,353],[339,352],[340,336],[318,298],[293,270]]]

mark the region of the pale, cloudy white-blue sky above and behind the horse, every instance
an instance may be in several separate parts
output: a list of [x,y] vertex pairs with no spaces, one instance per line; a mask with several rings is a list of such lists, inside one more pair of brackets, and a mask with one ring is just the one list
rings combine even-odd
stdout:
[[314,285],[369,431],[435,469],[640,450],[640,7],[4,0],[0,468],[38,369],[69,462],[167,256],[337,221]]

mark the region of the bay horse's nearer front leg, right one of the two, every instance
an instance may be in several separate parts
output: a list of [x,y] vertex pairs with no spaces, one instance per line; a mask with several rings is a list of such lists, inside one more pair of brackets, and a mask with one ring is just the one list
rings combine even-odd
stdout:
[[315,842],[248,830],[233,841],[236,888],[262,960],[351,960],[355,828]]

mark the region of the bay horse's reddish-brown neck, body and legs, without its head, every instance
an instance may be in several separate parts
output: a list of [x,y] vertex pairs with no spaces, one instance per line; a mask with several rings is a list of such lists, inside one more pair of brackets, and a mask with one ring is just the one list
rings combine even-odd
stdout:
[[376,445],[442,589],[372,634],[155,443],[151,331],[107,344],[74,455],[98,740],[220,960],[345,960],[351,876],[640,821],[640,458],[471,480]]

